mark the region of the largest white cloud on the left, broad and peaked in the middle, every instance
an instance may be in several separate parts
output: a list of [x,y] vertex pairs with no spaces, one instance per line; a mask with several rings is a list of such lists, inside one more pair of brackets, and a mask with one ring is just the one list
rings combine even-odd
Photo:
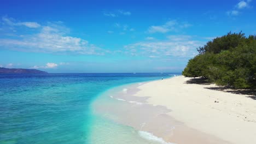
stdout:
[[0,46],[31,52],[73,52],[84,55],[103,55],[105,52],[87,40],[66,35],[68,30],[59,22],[48,23],[48,26],[41,27],[39,33],[23,35],[19,39],[0,39]]

